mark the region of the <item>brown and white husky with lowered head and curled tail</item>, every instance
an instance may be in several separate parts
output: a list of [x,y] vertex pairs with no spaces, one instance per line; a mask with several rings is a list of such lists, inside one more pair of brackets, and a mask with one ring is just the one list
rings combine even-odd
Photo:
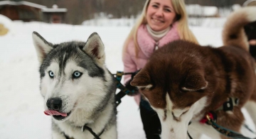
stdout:
[[[252,21],[256,21],[255,7],[235,11],[223,30],[224,47],[178,40],[156,50],[134,77],[132,86],[139,87],[160,118],[162,139],[188,138],[187,130],[192,138],[202,133],[227,138],[199,123],[209,111],[215,111],[218,125],[240,132],[245,106],[256,123],[255,60],[243,29]],[[217,111],[229,97],[239,99],[238,105],[232,111]]]

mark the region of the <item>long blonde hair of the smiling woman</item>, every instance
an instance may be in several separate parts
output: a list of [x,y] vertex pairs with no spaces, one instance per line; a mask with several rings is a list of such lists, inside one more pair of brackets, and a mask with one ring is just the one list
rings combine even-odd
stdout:
[[[191,30],[188,28],[188,19],[187,19],[188,17],[187,17],[184,1],[183,0],[170,0],[170,1],[171,1],[172,6],[174,7],[174,11],[176,13],[176,21],[178,22],[178,35],[180,36],[181,40],[188,40],[188,41],[198,44],[198,41],[196,40],[195,35],[193,35]],[[125,40],[124,46],[123,46],[123,52],[125,52],[127,50],[127,46],[129,45],[129,42],[131,40],[134,40],[136,56],[138,55],[139,45],[137,42],[137,30],[138,30],[139,26],[147,23],[146,22],[146,9],[149,6],[149,2],[150,2],[150,0],[147,0],[146,3],[144,4],[142,14],[137,19],[137,22],[134,24],[127,39]]]

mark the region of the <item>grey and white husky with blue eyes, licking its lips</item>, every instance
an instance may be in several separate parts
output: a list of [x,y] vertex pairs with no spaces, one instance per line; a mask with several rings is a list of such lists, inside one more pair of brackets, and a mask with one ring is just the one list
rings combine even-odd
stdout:
[[41,65],[44,113],[52,116],[53,138],[116,139],[116,87],[105,67],[100,36],[92,33],[86,43],[58,45],[36,32],[32,36]]

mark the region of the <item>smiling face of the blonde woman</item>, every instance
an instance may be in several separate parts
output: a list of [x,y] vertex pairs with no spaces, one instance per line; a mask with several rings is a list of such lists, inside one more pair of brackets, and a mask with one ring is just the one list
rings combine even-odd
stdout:
[[175,16],[171,0],[151,0],[146,10],[146,21],[155,31],[168,28],[174,22]]

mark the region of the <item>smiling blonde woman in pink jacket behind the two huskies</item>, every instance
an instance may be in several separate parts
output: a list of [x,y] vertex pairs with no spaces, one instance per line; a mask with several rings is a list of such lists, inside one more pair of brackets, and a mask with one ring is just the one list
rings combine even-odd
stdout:
[[[174,40],[189,40],[198,43],[188,28],[183,0],[147,0],[142,15],[130,31],[123,46],[124,72],[136,72],[146,65],[150,55],[166,43]],[[128,89],[136,89],[129,83],[131,76],[124,77]],[[158,139],[161,123],[149,103],[139,94],[134,96],[140,108],[147,139]]]

